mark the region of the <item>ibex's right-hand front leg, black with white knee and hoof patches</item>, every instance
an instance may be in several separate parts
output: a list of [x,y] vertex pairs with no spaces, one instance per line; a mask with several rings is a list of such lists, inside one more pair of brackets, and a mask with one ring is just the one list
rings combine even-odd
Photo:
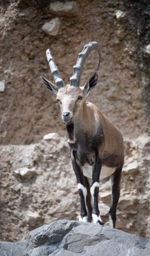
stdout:
[[99,195],[99,176],[100,170],[102,168],[102,160],[99,156],[96,157],[95,164],[93,164],[92,172],[92,185],[91,185],[91,195],[93,201],[92,208],[92,218],[93,223],[99,223],[104,225],[102,219],[100,218],[99,205],[98,205],[98,195]]

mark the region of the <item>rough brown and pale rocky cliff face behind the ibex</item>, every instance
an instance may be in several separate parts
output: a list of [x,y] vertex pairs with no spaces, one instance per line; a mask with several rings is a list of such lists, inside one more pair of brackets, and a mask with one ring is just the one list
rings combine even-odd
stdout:
[[[148,1],[3,1],[0,13],[1,239],[18,240],[59,218],[76,219],[78,196],[45,52],[51,48],[63,79],[72,75],[85,43],[102,43],[99,83],[90,100],[125,139],[117,227],[148,236],[149,4]],[[89,56],[81,83],[96,67]],[[63,136],[43,135],[57,132]],[[33,144],[34,143],[34,144]],[[10,145],[9,145],[10,144]],[[15,172],[14,172],[15,171]],[[74,196],[75,195],[75,196]],[[110,182],[100,184],[107,225]]]

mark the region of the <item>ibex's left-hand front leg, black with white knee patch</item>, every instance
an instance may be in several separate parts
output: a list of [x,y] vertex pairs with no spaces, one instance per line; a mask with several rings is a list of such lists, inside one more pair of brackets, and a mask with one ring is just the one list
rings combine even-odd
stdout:
[[87,197],[87,188],[85,187],[83,169],[77,164],[74,154],[72,154],[72,166],[77,178],[78,194],[80,195],[81,212],[80,212],[79,221],[87,222],[88,216],[87,216],[87,209],[85,205],[86,197]]

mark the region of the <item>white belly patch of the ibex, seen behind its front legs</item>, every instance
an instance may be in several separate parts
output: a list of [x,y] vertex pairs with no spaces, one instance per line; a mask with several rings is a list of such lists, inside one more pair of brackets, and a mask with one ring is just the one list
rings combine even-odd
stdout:
[[[116,168],[110,168],[106,165],[102,165],[102,169],[100,172],[100,180],[106,179],[107,177],[111,176],[115,172]],[[92,179],[92,166],[83,166],[83,174],[84,176]]]

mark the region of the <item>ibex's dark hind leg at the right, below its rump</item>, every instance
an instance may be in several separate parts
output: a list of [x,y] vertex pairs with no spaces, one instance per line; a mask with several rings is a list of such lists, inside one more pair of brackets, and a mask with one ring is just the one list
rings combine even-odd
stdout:
[[120,180],[121,180],[121,172],[122,168],[117,168],[117,170],[111,175],[111,186],[112,186],[112,194],[111,194],[111,207],[109,212],[109,222],[110,227],[115,228],[116,221],[116,210],[120,196]]

